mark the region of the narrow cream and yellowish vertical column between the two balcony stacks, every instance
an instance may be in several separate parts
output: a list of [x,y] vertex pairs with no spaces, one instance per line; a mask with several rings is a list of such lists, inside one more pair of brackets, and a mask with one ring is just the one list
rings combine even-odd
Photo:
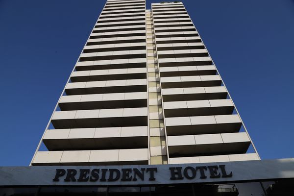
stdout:
[[150,164],[167,164],[167,147],[152,12],[146,10]]

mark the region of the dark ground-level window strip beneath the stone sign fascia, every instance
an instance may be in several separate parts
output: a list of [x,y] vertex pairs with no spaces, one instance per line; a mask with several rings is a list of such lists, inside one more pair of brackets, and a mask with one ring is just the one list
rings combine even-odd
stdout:
[[294,179],[144,187],[0,187],[0,196],[294,196]]

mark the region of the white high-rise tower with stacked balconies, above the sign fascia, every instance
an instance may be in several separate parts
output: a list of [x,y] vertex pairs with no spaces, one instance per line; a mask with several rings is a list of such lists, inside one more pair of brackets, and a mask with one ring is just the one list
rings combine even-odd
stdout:
[[260,159],[183,3],[151,7],[107,0],[31,165]]

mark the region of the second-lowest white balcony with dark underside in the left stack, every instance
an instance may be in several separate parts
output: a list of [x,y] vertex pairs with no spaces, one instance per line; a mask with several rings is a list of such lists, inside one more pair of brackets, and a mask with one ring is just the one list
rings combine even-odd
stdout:
[[97,150],[148,147],[147,126],[48,129],[43,143],[49,150]]

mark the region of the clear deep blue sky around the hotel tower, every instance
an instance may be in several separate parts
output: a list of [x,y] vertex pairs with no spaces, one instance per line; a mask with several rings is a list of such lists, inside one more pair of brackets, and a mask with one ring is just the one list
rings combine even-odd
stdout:
[[[29,164],[105,1],[0,0],[0,166]],[[294,0],[183,2],[262,159],[294,157]]]

